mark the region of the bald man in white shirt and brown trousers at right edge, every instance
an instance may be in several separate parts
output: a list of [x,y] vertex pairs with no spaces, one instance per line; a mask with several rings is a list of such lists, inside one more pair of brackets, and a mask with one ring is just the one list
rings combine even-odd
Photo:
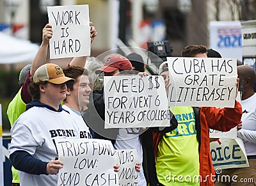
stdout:
[[243,109],[241,119],[243,125],[242,129],[237,131],[237,136],[243,139],[250,167],[223,169],[222,175],[229,175],[230,178],[237,175],[237,178],[230,179],[230,182],[217,182],[216,186],[256,185],[256,94],[253,91],[256,74],[253,68],[248,65],[237,66],[237,74],[240,79],[239,91],[242,94],[241,105]]

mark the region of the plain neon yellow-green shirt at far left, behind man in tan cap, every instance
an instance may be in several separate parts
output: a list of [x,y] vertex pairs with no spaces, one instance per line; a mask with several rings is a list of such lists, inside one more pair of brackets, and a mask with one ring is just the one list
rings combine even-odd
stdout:
[[[19,92],[15,95],[12,102],[8,105],[7,116],[11,123],[13,123],[19,118],[20,114],[26,111],[26,104],[23,102],[21,98],[21,88]],[[12,167],[12,183],[19,183],[19,174],[18,171]]]

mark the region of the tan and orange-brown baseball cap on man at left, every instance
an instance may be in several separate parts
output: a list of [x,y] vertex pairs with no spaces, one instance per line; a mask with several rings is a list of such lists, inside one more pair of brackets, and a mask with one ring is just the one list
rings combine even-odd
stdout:
[[63,84],[67,81],[75,81],[70,77],[66,77],[60,66],[53,63],[46,63],[40,66],[33,77],[33,82],[48,81],[53,84]]

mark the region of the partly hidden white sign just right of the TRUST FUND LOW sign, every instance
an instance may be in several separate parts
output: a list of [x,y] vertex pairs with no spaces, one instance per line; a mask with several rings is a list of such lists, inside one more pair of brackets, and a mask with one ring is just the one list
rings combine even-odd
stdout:
[[138,162],[136,149],[116,150],[118,156],[118,171],[119,185],[138,185],[138,172],[135,169]]

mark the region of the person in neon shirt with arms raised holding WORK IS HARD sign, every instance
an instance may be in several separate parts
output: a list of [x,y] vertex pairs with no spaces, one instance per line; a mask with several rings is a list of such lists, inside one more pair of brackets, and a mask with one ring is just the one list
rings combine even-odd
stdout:
[[[97,32],[95,27],[92,26],[92,22],[90,22],[91,30],[91,43],[97,36]],[[10,120],[11,126],[19,118],[20,114],[25,111],[26,104],[31,102],[31,95],[28,93],[28,85],[30,83],[29,77],[35,74],[36,69],[45,64],[46,56],[47,56],[47,49],[49,46],[49,40],[52,37],[52,26],[50,24],[46,24],[44,29],[42,30],[42,43],[38,52],[36,53],[35,59],[33,60],[32,64],[27,65],[24,67],[25,70],[22,69],[20,73],[21,79],[19,79],[19,84],[21,86],[19,92],[13,98],[12,102],[8,105],[7,115],[8,119]],[[70,65],[81,65],[84,66],[84,61],[86,61],[85,57],[77,57],[73,58],[70,62]],[[22,80],[22,81],[21,81]],[[19,186],[19,174],[18,171],[12,167],[12,185]]]

